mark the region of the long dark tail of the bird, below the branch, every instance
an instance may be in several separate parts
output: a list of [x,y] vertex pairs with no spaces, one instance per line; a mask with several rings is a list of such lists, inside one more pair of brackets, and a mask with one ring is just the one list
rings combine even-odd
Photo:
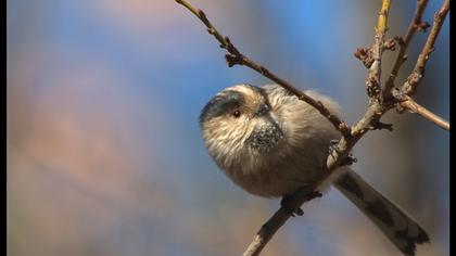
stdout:
[[416,244],[429,242],[426,231],[407,213],[353,170],[340,176],[333,184],[405,255],[415,255]]

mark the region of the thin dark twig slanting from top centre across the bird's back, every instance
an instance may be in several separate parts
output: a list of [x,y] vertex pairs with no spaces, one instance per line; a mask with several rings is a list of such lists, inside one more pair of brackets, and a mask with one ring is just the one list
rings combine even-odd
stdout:
[[199,17],[204,25],[207,27],[208,34],[213,35],[218,42],[220,42],[220,48],[225,49],[228,53],[225,55],[228,66],[233,65],[244,65],[248,66],[263,76],[269,78],[270,80],[277,82],[279,86],[283,87],[291,93],[297,97],[297,99],[306,102],[311,106],[315,107],[321,115],[324,115],[334,127],[339,130],[342,136],[350,133],[350,127],[340,119],[337,115],[332,114],[320,101],[316,101],[313,98],[308,97],[297,88],[293,87],[290,82],[281,79],[270,71],[268,71],[263,65],[259,65],[242,54],[229,40],[228,37],[221,36],[221,34],[214,27],[214,25],[207,20],[206,14],[200,10],[193,8],[190,3],[185,0],[176,0],[177,3],[186,7],[190,12],[192,12],[197,17]]

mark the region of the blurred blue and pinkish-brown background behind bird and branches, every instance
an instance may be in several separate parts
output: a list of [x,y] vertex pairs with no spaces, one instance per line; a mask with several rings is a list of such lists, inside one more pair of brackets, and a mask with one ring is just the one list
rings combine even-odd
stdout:
[[[442,1],[430,1],[432,23]],[[200,21],[172,0],[8,0],[8,255],[240,255],[278,208],[250,195],[206,154],[200,110],[237,82]],[[301,89],[335,99],[343,118],[367,105],[366,68],[380,1],[191,1],[253,60]],[[394,1],[389,37],[416,1]],[[448,20],[448,17],[447,17]],[[449,36],[443,26],[417,101],[449,118]],[[417,34],[411,71],[427,34]],[[385,52],[383,75],[394,53]],[[353,168],[409,212],[449,255],[449,133],[390,112]],[[304,206],[262,255],[400,255],[338,191]]]

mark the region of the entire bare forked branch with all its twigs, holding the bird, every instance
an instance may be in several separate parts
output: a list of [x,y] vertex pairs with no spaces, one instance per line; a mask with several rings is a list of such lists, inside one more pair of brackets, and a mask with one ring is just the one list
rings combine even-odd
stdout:
[[[270,80],[277,82],[279,86],[283,87],[284,89],[289,90],[293,94],[295,94],[300,100],[305,101],[309,105],[314,106],[316,110],[319,111],[321,115],[324,115],[331,124],[342,133],[342,138],[338,142],[337,146],[333,148],[332,152],[327,158],[327,167],[328,170],[325,177],[316,182],[312,188],[308,187],[305,190],[299,190],[296,193],[290,197],[288,201],[288,209],[279,208],[270,218],[269,220],[262,226],[259,231],[254,236],[254,240],[249,245],[248,249],[244,252],[244,256],[250,255],[258,255],[263,247],[268,243],[268,241],[273,238],[273,235],[277,232],[277,230],[283,226],[283,223],[291,217],[290,210],[297,209],[301,207],[302,204],[312,200],[313,192],[330,176],[332,175],[338,167],[340,167],[344,159],[349,156],[350,152],[352,151],[353,146],[357,143],[357,141],[366,135],[367,131],[372,129],[391,129],[391,125],[382,124],[380,118],[384,113],[390,111],[394,107],[395,104],[401,104],[405,108],[409,111],[414,111],[428,119],[432,120],[440,127],[447,127],[449,129],[449,124],[445,124],[445,120],[436,117],[422,106],[419,106],[415,103],[408,95],[411,94],[416,86],[418,85],[419,80],[422,77],[426,61],[428,60],[429,54],[433,50],[433,46],[439,35],[440,28],[442,27],[442,23],[446,16],[449,7],[449,0],[445,0],[444,5],[440,10],[440,12],[435,15],[434,24],[431,29],[431,34],[428,37],[427,43],[425,44],[420,57],[417,61],[415,66],[414,73],[410,75],[407,82],[404,85],[404,90],[401,91],[402,93],[396,93],[395,97],[391,101],[384,102],[384,95],[388,94],[390,89],[393,88],[394,78],[401,67],[403,59],[405,56],[405,50],[417,29],[426,29],[427,25],[421,22],[421,15],[426,8],[427,0],[419,0],[417,10],[415,12],[415,16],[413,22],[409,25],[407,34],[405,38],[401,39],[401,50],[395,60],[395,64],[391,72],[390,78],[387,81],[388,90],[381,90],[380,88],[380,77],[381,77],[381,57],[382,52],[384,49],[393,48],[391,42],[385,41],[385,33],[388,30],[388,14],[391,5],[390,0],[382,0],[382,7],[379,12],[378,22],[376,26],[376,34],[375,34],[375,43],[371,50],[371,57],[372,60],[367,60],[365,65],[369,67],[368,77],[366,79],[366,86],[368,95],[370,98],[369,106],[366,110],[364,116],[352,127],[349,127],[343,120],[341,120],[337,115],[333,115],[328,111],[325,105],[321,104],[319,101],[315,101],[311,97],[306,95],[295,87],[293,87],[290,82],[279,78],[274,73],[269,72],[266,67],[255,63],[251,59],[246,57],[242,54],[229,40],[228,37],[223,36],[214,25],[208,21],[206,15],[202,10],[195,9],[190,5],[185,0],[176,0],[179,4],[186,7],[189,11],[191,11],[197,17],[199,17],[207,28],[207,31],[213,35],[216,40],[220,43],[220,47],[227,51],[225,55],[226,61],[229,66],[233,65],[244,65],[248,66],[257,73],[262,74],[263,76],[269,78]],[[359,57],[360,59],[360,57]],[[419,77],[418,80],[416,77]],[[401,97],[400,97],[401,95]],[[405,98],[407,97],[407,98]]]

